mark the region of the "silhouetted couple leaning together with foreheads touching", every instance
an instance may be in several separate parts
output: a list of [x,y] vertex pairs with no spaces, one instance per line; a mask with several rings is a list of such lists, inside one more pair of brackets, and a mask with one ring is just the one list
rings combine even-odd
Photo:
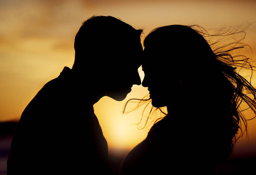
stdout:
[[124,100],[141,84],[141,65],[148,100],[168,114],[128,153],[120,174],[216,174],[246,123],[240,100],[256,113],[256,89],[236,72],[229,51],[213,52],[193,26],[154,29],[144,50],[142,32],[111,16],[82,24],[73,68],[44,85],[21,115],[7,175],[111,175],[93,104],[103,96]]

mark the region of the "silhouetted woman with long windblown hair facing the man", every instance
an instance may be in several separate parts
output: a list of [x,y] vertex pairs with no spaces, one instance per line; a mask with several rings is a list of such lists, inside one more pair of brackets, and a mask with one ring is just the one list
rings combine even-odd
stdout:
[[210,46],[207,32],[195,27],[163,26],[144,40],[142,85],[152,106],[166,106],[168,114],[127,155],[122,175],[214,175],[243,124],[246,129],[241,101],[256,113],[256,89],[238,74],[240,68],[252,70],[248,58],[231,55],[243,45],[212,49],[219,41]]

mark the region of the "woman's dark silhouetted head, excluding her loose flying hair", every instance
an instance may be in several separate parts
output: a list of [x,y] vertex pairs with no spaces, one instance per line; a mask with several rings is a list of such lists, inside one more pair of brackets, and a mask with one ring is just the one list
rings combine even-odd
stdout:
[[205,77],[215,72],[215,57],[209,44],[188,26],[154,29],[145,38],[144,46],[143,86],[148,87],[155,107],[188,97],[204,86]]

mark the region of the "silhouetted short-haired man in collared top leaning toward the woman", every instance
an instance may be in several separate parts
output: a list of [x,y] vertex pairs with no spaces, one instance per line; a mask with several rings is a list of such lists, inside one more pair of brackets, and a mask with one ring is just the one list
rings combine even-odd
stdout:
[[82,24],[73,68],[64,67],[21,115],[8,175],[110,173],[108,144],[93,104],[103,96],[123,100],[140,85],[141,32],[111,16]]

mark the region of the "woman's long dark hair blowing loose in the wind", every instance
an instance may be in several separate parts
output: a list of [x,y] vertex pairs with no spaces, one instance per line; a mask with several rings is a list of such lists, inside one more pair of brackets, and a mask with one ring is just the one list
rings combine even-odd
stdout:
[[[170,30],[174,26],[176,25],[164,26],[151,31],[144,40],[145,48],[147,47],[150,38],[154,37],[155,33],[164,28]],[[221,124],[219,126],[220,129],[216,134],[220,140],[219,144],[217,144],[217,159],[218,161],[224,160],[231,154],[238,138],[244,133],[247,133],[247,120],[255,118],[245,118],[244,111],[251,109],[253,113],[256,114],[256,89],[252,86],[251,82],[254,66],[249,57],[241,54],[243,50],[245,50],[245,52],[250,52],[250,46],[242,43],[245,37],[245,32],[244,30],[241,30],[241,26],[237,28],[230,27],[228,29],[227,27],[221,28],[215,30],[213,34],[210,34],[207,30],[198,25],[177,25],[177,27],[181,27],[181,29],[191,33],[196,32],[196,37],[201,35],[200,37],[204,38],[203,40],[207,43],[206,47],[210,48],[207,50],[207,52],[209,52],[209,57],[205,59],[212,59],[212,62],[210,62],[213,65],[212,70],[214,70],[212,77],[217,77],[214,83],[218,83],[218,85],[216,85],[215,88],[221,89],[224,87],[215,92],[217,97],[216,100],[213,100],[214,103],[219,101],[220,104],[218,105],[218,108],[222,108],[220,109],[221,114],[217,117],[217,120],[221,120]],[[230,40],[232,42],[230,42]],[[240,75],[244,70],[250,71],[249,79]],[[220,99],[217,100],[217,98]],[[150,106],[151,99],[130,99],[125,103],[123,113],[131,112],[131,110],[127,111],[126,108],[128,103],[134,101],[139,101],[137,107],[134,109],[137,109],[143,104],[146,105],[146,108]],[[243,104],[243,106],[246,105],[247,108],[241,107],[241,104]],[[155,114],[158,109],[160,109],[160,112],[162,112],[164,116],[167,115],[167,112],[165,112],[164,109],[151,106],[148,116]],[[143,113],[144,112],[145,109],[143,110]],[[160,118],[157,120],[159,119]],[[148,120],[146,120],[146,123],[147,121]]]

